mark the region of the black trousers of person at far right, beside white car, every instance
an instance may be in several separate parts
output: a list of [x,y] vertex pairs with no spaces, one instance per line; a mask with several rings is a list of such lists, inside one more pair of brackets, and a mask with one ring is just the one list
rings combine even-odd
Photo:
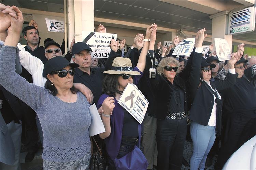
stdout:
[[219,168],[224,166],[238,148],[256,135],[256,118],[247,117],[245,114],[234,114],[229,117],[227,124],[216,163]]

